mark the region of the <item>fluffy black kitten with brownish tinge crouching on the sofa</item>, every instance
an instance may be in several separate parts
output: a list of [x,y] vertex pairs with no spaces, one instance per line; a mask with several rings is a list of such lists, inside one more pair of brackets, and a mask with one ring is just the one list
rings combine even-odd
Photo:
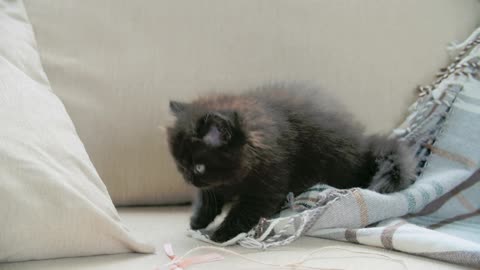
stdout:
[[331,98],[299,85],[172,101],[170,109],[177,117],[168,129],[170,151],[199,188],[191,228],[205,228],[233,202],[213,241],[249,231],[289,192],[318,182],[390,193],[414,176],[413,158],[399,142],[363,135]]

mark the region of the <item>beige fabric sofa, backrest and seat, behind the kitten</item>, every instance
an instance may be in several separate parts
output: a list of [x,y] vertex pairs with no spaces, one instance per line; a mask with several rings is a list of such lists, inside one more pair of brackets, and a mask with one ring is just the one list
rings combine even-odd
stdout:
[[[169,99],[269,81],[309,81],[336,95],[369,132],[388,132],[402,120],[415,87],[430,82],[448,62],[448,43],[480,25],[476,0],[27,0],[25,5],[52,88],[120,216],[158,254],[0,264],[12,270],[154,269],[168,262],[164,243],[171,242],[178,254],[203,244],[186,236],[189,207],[165,206],[191,198],[167,152]],[[465,269],[315,238],[265,252],[233,249],[287,263],[319,247],[332,248],[310,265]],[[268,269],[233,256],[192,269],[226,267]]]

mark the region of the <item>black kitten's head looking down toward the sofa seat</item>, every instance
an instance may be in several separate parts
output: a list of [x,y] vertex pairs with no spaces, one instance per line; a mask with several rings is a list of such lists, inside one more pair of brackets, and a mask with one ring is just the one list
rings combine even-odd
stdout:
[[208,188],[242,181],[246,139],[237,112],[175,101],[170,110],[176,117],[167,132],[170,152],[188,183]]

